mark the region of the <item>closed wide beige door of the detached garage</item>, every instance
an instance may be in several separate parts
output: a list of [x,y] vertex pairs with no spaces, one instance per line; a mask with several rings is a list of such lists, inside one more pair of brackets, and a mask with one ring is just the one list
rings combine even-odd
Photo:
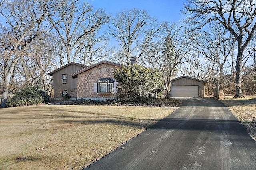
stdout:
[[198,97],[198,86],[172,86],[172,97]]

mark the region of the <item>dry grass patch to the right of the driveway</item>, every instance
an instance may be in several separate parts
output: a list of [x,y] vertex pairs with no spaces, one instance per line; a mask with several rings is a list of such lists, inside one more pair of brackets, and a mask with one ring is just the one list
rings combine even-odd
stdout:
[[256,96],[245,96],[245,98],[233,98],[233,96],[225,96],[221,101],[230,108],[256,140]]

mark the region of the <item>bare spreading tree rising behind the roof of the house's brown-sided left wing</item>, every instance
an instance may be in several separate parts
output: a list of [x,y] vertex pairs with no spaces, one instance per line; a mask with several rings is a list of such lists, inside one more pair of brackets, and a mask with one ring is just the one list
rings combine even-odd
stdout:
[[80,4],[80,0],[58,0],[58,5],[49,20],[65,48],[66,60],[75,62],[86,37],[100,30],[109,16],[102,9],[94,10],[88,2]]

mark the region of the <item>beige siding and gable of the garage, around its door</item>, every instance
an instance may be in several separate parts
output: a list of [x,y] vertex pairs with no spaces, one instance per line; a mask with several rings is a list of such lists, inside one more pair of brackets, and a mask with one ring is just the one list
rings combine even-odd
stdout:
[[174,80],[171,83],[172,86],[193,86],[198,85],[199,87],[199,97],[204,97],[204,82],[196,81],[190,78],[180,78]]

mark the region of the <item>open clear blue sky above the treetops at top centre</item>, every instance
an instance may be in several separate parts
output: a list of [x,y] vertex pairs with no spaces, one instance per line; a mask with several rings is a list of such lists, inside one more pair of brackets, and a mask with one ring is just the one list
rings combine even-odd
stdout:
[[88,0],[94,8],[104,8],[110,14],[124,9],[144,9],[158,21],[176,22],[182,18],[181,10],[186,0]]

